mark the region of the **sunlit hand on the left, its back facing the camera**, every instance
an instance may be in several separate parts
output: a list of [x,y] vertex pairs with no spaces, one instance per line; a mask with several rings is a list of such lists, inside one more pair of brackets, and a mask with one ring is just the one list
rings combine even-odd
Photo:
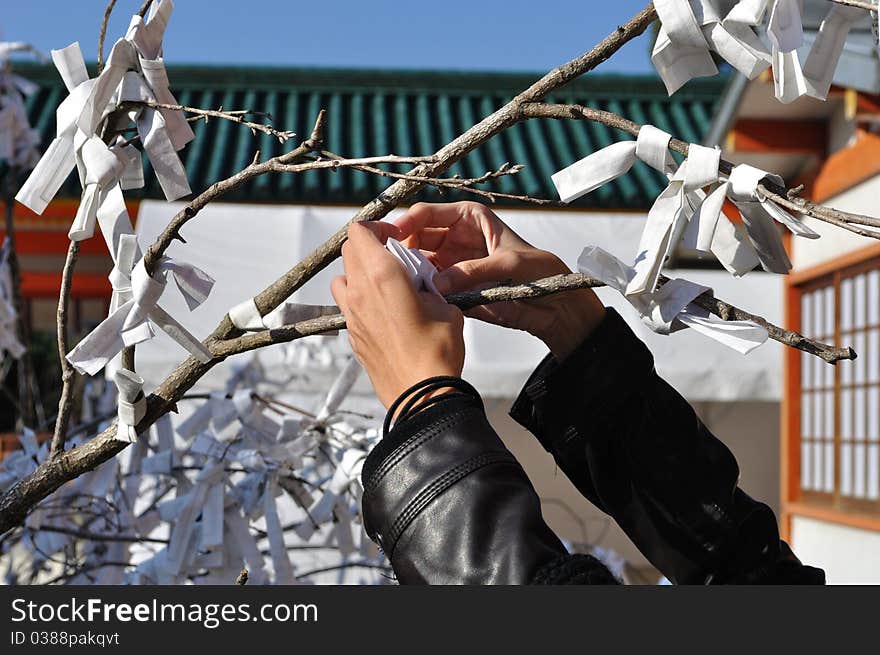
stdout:
[[385,407],[417,382],[437,375],[459,377],[464,367],[461,311],[416,290],[383,246],[397,236],[391,223],[351,225],[342,246],[345,275],[330,285],[355,355]]

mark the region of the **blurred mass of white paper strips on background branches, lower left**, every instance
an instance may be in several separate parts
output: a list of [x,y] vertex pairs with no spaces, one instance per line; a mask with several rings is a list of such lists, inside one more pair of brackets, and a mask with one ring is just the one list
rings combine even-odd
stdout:
[[[360,469],[378,434],[340,411],[359,365],[331,359],[341,370],[312,416],[258,400],[264,397],[258,393],[271,397],[274,383],[256,357],[176,431],[165,416],[122,456],[58,490],[29,515],[24,539],[6,546],[6,581],[25,582],[22,576],[34,566],[51,568],[51,559],[74,544],[85,568],[130,562],[128,568],[95,568],[91,575],[101,584],[174,584],[194,576],[196,582],[231,584],[242,567],[250,583],[291,584],[305,573],[295,548],[305,545],[327,547],[323,561],[330,565],[381,564],[359,517]],[[112,389],[96,390],[86,393],[95,405],[90,412],[112,411]],[[0,465],[0,491],[48,454],[48,444],[40,447],[33,433],[21,441],[23,449]],[[107,504],[98,518],[89,511],[101,513],[96,502]],[[68,532],[168,541],[105,542]],[[79,575],[69,582],[87,581]]]

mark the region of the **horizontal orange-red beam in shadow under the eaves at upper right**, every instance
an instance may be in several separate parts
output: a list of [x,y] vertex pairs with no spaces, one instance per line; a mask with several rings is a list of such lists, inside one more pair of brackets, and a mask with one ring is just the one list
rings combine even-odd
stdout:
[[824,157],[828,124],[819,120],[741,118],[728,137],[736,152],[776,152]]

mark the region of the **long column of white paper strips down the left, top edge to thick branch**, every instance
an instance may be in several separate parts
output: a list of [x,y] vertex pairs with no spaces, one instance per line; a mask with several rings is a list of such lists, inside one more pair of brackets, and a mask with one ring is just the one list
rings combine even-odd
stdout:
[[[168,88],[162,59],[162,39],[173,9],[171,0],[154,2],[147,20],[134,16],[125,37],[114,45],[104,69],[89,78],[78,43],[52,51],[52,60],[70,95],[57,110],[57,136],[16,195],[16,200],[42,213],[76,167],[82,198],[69,236],[81,241],[94,235],[96,223],[107,242],[114,267],[110,314],[67,356],[81,373],[95,375],[125,346],[154,336],[154,326],[167,332],[200,361],[211,355],[178,321],[158,304],[170,275],[190,309],[204,302],[213,279],[187,264],[162,257],[147,274],[122,191],[142,187],[140,151],[119,136],[105,143],[107,130],[133,121],[137,136],[168,200],[190,193],[186,171],[177,152],[193,139],[180,111],[156,110],[126,102],[176,104]],[[121,111],[124,109],[124,111]],[[113,125],[108,123],[113,122]],[[117,375],[120,438],[134,438],[131,421],[143,415],[140,378]]]

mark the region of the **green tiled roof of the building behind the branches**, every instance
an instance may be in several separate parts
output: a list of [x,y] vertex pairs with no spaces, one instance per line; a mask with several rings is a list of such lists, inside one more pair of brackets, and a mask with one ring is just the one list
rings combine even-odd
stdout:
[[[66,91],[51,66],[16,66],[16,72],[40,85],[27,100],[32,125],[43,133],[45,148],[55,131],[55,109]],[[350,157],[431,154],[485,115],[502,106],[536,75],[390,70],[325,70],[169,66],[172,90],[181,104],[216,109],[269,112],[280,129],[307,135],[321,108],[328,110],[327,148]],[[578,103],[651,123],[688,141],[701,141],[709,127],[725,80],[696,80],[668,98],[653,76],[588,75],[554,93],[551,102]],[[182,152],[194,192],[247,165],[256,149],[264,158],[281,146],[268,135],[256,137],[228,121],[195,126],[196,139]],[[525,169],[493,183],[505,193],[556,198],[550,175],[587,154],[625,137],[604,126],[575,121],[531,120],[516,125],[471,153],[450,174],[481,175],[503,164]],[[162,197],[147,164],[145,197]],[[229,200],[284,203],[363,203],[389,180],[344,170],[302,175],[266,175]],[[650,206],[665,179],[639,163],[577,205],[608,209]],[[62,190],[79,195],[75,175]],[[443,196],[453,199],[451,194]],[[436,190],[421,199],[437,200]]]

